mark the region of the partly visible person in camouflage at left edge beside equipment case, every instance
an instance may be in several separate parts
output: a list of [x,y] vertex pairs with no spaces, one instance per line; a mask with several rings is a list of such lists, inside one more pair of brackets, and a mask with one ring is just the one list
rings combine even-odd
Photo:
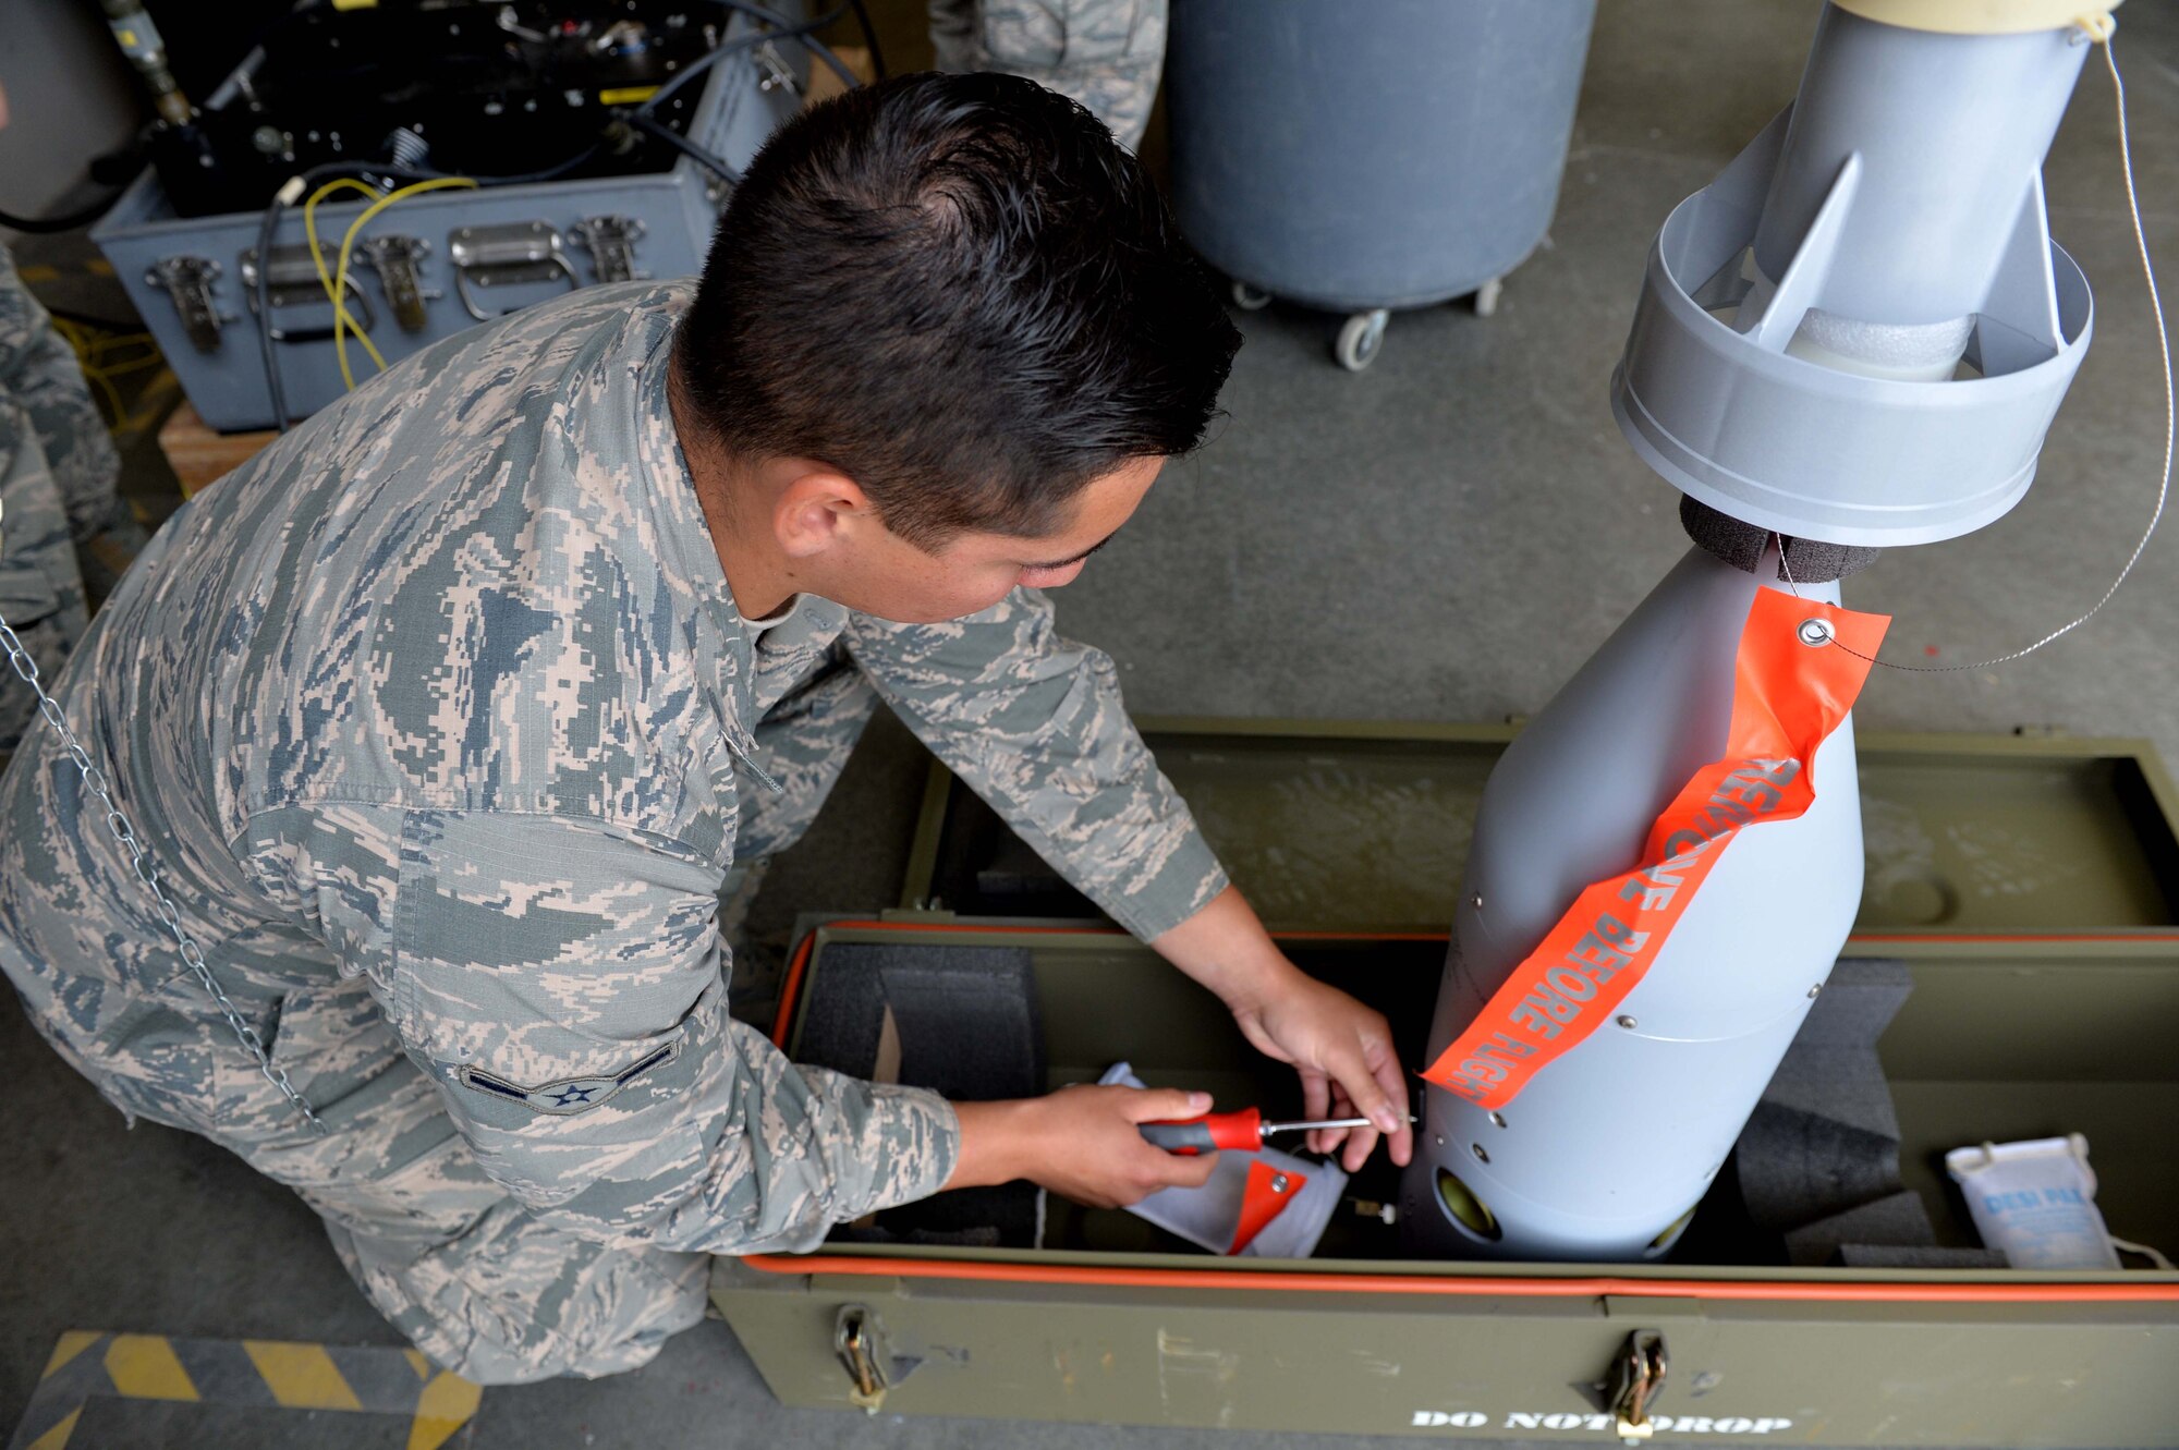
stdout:
[[[120,462],[83,368],[0,246],[0,618],[48,675],[89,623],[76,544],[126,525]],[[37,703],[0,673],[0,755]]]

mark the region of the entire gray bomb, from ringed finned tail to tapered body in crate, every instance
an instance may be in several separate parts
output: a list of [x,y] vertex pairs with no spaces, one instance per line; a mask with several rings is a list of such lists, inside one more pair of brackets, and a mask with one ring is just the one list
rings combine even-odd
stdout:
[[[1992,523],[2087,351],[2087,281],[2042,192],[2087,33],[1918,30],[1863,4],[1824,9],[1793,107],[1667,218],[1612,377],[1634,451],[1748,529],[1758,568],[1691,553],[1506,751],[1432,1060],[1724,753],[1748,601],[1776,588],[1765,533],[1896,546]],[[1732,836],[1612,1021],[1499,1113],[1429,1089],[1403,1180],[1414,1252],[1669,1252],[1859,906],[1850,718],[1813,771],[1813,808]]]

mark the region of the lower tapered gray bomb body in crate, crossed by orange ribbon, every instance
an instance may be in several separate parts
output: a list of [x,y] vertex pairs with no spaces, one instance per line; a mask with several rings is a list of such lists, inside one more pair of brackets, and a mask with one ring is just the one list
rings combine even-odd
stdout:
[[[1776,568],[1776,566],[1774,566]],[[1429,1032],[1436,1060],[1591,882],[1632,869],[1658,812],[1724,755],[1756,575],[1702,549],[1506,749],[1475,819]],[[1837,586],[1802,586],[1837,601]],[[1493,1117],[1427,1089],[1401,1193],[1416,1256],[1636,1261],[1726,1160],[1809,1015],[1861,901],[1852,721],[1813,762],[1815,803],[1739,832],[1615,1017]],[[1475,1150],[1482,1147],[1482,1154]],[[1458,1176],[1501,1237],[1445,1211]]]

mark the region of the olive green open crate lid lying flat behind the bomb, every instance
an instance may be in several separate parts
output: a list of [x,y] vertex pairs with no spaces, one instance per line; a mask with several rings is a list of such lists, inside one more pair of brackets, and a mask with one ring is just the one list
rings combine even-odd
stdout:
[[[1442,932],[1514,725],[1144,718],[1273,930]],[[2146,740],[1865,734],[1863,932],[2179,923],[2179,786]],[[900,906],[1098,919],[933,762]]]

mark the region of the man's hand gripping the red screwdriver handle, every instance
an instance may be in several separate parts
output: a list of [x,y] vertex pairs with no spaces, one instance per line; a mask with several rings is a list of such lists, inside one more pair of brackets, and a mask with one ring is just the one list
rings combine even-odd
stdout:
[[1050,1097],[957,1102],[961,1156],[948,1189],[1026,1178],[1092,1208],[1124,1208],[1157,1189],[1201,1187],[1218,1154],[1151,1147],[1137,1123],[1201,1117],[1209,1093],[1070,1086]]

